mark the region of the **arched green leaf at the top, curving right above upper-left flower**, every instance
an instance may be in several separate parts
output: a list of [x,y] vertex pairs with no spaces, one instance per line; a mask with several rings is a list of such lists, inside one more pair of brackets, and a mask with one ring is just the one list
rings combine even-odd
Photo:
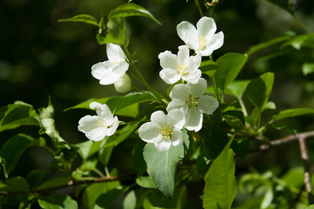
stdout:
[[149,17],[161,25],[161,23],[158,20],[156,20],[156,18],[153,15],[151,15],[151,13],[149,13],[148,10],[146,10],[142,6],[138,6],[135,3],[126,3],[112,10],[108,15],[108,19],[111,20],[112,18],[130,17],[130,16]]

